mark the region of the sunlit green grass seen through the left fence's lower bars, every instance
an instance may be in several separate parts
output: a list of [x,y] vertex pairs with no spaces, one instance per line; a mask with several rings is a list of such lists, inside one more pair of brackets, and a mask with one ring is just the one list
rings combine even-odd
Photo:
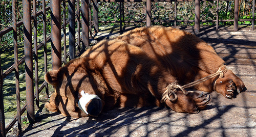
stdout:
[[[38,38],[38,44],[42,39]],[[67,39],[68,44],[68,39]],[[63,45],[63,42],[62,42]],[[34,46],[34,45],[33,45]],[[10,46],[13,48],[13,46]],[[9,67],[14,64],[14,51],[9,49],[1,53],[1,67],[3,72],[5,72]],[[47,60],[48,60],[48,70],[51,70],[51,42],[47,43]],[[24,56],[24,43],[18,44],[18,59],[21,59]],[[63,56],[63,47],[62,47],[62,56]],[[33,67],[34,67],[34,57],[33,57]],[[35,70],[33,68],[33,75],[35,79]],[[40,85],[45,81],[44,80],[45,70],[44,70],[44,47],[38,49],[38,83]],[[25,63],[19,66],[19,89],[20,89],[20,107],[22,108],[26,104],[26,76],[25,76]],[[35,87],[35,83],[34,83]],[[50,95],[54,92],[54,89],[49,85]],[[34,89],[35,93],[35,89]],[[17,114],[17,104],[16,104],[16,89],[15,89],[15,72],[12,71],[7,77],[4,78],[3,84],[3,94],[4,94],[4,111],[5,111],[5,123],[6,125],[14,118]],[[44,104],[49,99],[46,98],[45,88],[39,94],[39,105]],[[35,106],[35,113],[38,111],[38,108]],[[22,115],[23,123],[27,120],[26,112]],[[27,123],[27,122],[26,122]]]

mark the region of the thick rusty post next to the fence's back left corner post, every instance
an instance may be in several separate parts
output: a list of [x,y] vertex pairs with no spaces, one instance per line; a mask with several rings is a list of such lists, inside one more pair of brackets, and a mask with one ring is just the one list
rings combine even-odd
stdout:
[[81,0],[82,9],[82,47],[89,46],[89,0]]

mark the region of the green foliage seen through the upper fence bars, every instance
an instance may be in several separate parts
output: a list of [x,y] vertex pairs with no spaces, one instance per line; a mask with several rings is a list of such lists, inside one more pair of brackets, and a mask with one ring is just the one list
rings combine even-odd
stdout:
[[[47,6],[50,5],[50,1],[46,1]],[[206,1],[201,2],[200,20],[215,20],[217,19],[217,2]],[[62,3],[61,3],[62,5]],[[81,3],[80,3],[81,5]],[[17,0],[17,21],[23,18],[22,0]],[[92,5],[91,5],[92,7]],[[121,17],[124,21],[141,21],[146,19],[146,3],[124,3],[124,16]],[[32,8],[32,4],[31,4]],[[68,3],[66,3],[66,18],[68,19]],[[116,23],[100,23],[99,25],[119,25],[120,11],[119,3],[98,3],[99,20],[100,21],[117,21]],[[1,0],[0,2],[0,30],[12,26],[12,1]],[[42,9],[42,3],[37,3],[37,11]],[[77,7],[76,7],[77,9]],[[92,10],[92,8],[91,8]],[[63,8],[61,8],[61,16],[63,15]],[[174,20],[174,2],[152,2],[152,20]],[[219,19],[227,20],[234,17],[234,2],[233,1],[220,1],[219,2]],[[176,19],[184,22],[177,22],[177,25],[194,25],[194,22],[186,22],[186,20],[195,19],[195,2],[177,2],[177,14]],[[239,2],[239,19],[251,19],[252,18],[252,1],[245,0]],[[50,33],[50,11],[47,11],[47,34]],[[93,16],[93,12],[91,11]],[[63,18],[63,16],[62,16]],[[81,16],[80,16],[81,19]],[[62,20],[62,19],[61,19]],[[42,15],[37,17],[37,35],[43,34],[43,22]],[[232,25],[233,21],[219,22],[219,25]],[[153,25],[174,25],[174,22],[152,22]],[[202,25],[216,25],[216,22],[201,22]],[[239,24],[250,25],[251,21],[239,21]],[[33,25],[33,24],[32,24]],[[145,25],[145,23],[123,23],[123,25]],[[77,26],[77,23],[76,23]],[[32,31],[33,33],[33,31]],[[18,28],[18,43],[23,41],[23,26]],[[12,47],[13,33],[10,32],[0,38],[0,50],[8,50]]]

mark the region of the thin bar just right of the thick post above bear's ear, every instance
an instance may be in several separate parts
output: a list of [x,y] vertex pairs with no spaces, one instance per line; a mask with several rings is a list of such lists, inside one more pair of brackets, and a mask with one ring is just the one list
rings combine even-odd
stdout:
[[66,33],[66,1],[63,1],[63,50],[64,50],[64,63],[67,64],[67,33]]

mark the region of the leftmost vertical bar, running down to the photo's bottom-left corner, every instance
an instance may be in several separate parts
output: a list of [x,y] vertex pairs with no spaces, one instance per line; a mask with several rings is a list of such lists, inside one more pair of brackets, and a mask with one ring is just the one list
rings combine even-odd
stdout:
[[3,93],[3,70],[1,67],[1,51],[0,51],[0,136],[5,137],[5,107],[4,107],[4,93]]

